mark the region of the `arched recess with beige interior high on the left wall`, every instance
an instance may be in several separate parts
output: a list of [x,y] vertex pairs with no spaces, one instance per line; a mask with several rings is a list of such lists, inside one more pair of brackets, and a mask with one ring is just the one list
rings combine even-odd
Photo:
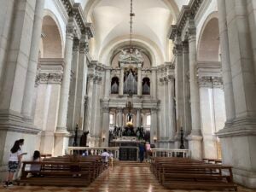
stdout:
[[40,57],[43,58],[63,57],[61,27],[55,15],[49,10],[44,11],[39,51]]

